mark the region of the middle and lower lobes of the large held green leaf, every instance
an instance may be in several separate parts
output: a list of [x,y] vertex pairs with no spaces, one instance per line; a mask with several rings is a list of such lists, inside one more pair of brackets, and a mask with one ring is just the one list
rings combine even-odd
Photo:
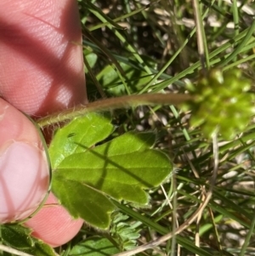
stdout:
[[[107,229],[114,206],[108,199],[145,205],[149,189],[167,178],[172,164],[161,151],[150,149],[153,133],[124,134],[82,152],[74,151],[59,163],[53,174],[53,191],[74,217]],[[85,151],[84,151],[85,150]]]

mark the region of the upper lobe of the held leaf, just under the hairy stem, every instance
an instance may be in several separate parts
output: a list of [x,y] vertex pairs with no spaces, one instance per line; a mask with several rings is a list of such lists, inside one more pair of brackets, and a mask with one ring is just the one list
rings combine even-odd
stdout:
[[89,148],[107,138],[112,131],[111,119],[105,116],[90,113],[75,118],[54,135],[48,149],[52,168],[57,168],[66,156],[84,151],[79,144]]

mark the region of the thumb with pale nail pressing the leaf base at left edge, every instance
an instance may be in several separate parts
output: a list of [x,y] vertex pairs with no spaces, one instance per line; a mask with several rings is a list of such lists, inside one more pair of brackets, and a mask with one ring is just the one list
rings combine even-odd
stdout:
[[42,139],[34,124],[0,99],[0,223],[25,219],[49,185]]

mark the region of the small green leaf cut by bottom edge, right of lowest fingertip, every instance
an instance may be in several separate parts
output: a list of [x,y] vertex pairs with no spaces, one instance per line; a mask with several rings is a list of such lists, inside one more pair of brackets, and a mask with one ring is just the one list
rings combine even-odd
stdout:
[[72,256],[111,256],[120,251],[106,238],[93,237],[71,249]]

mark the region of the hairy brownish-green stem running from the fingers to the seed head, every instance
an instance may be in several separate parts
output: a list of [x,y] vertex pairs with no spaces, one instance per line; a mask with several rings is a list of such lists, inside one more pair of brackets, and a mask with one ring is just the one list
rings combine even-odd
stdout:
[[65,111],[54,113],[37,120],[39,127],[44,128],[58,122],[65,122],[74,117],[81,117],[94,111],[111,111],[138,105],[179,105],[192,100],[189,94],[141,94],[128,95],[105,100],[97,100],[86,105],[77,105]]

